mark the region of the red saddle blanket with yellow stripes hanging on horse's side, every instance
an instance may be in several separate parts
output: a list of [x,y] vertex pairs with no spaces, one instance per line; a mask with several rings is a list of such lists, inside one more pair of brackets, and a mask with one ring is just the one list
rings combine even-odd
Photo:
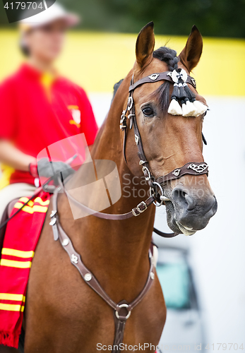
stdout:
[[[20,198],[11,215],[27,201]],[[0,262],[0,345],[18,348],[30,267],[49,201],[49,193],[41,191],[8,222]]]

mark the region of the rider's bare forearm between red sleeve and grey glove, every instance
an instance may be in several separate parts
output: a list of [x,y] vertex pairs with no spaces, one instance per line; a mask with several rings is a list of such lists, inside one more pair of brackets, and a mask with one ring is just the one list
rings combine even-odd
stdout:
[[25,155],[10,142],[0,139],[0,162],[14,169],[29,171],[29,164],[35,162],[35,157]]

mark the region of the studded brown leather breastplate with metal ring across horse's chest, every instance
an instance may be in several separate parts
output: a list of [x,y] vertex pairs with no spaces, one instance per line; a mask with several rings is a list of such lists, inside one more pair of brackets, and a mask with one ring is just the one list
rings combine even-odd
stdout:
[[[52,225],[52,229],[54,232],[54,238],[56,237],[56,229],[58,229],[58,236],[59,241],[63,249],[68,253],[68,256],[71,260],[71,263],[77,268],[78,272],[80,273],[83,280],[92,288],[106,303],[114,309],[114,320],[115,320],[115,335],[114,335],[114,345],[119,347],[120,343],[124,340],[124,328],[126,321],[131,316],[131,311],[133,308],[145,297],[148,290],[150,289],[151,285],[153,284],[153,280],[155,278],[155,268],[153,263],[153,256],[149,249],[149,258],[150,258],[150,270],[148,273],[148,279],[145,283],[145,287],[141,291],[141,293],[131,301],[131,303],[127,303],[127,301],[120,301],[119,304],[116,304],[109,295],[104,291],[104,289],[100,286],[100,283],[97,281],[96,277],[86,268],[84,265],[80,254],[76,252],[71,242],[71,239],[68,237],[64,229],[61,227],[59,222],[59,215],[58,215],[58,205],[57,205],[57,198],[58,198],[59,189],[57,188],[54,191],[54,196],[52,198],[52,206],[53,210],[51,213],[52,220],[49,223]],[[120,349],[112,349],[113,353],[120,352]]]

